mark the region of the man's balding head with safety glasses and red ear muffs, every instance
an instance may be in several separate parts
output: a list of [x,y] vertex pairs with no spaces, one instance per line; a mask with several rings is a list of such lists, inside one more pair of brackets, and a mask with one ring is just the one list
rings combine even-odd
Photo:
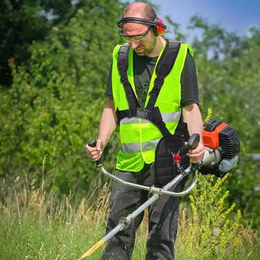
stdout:
[[163,34],[166,26],[156,16],[156,12],[147,3],[131,3],[124,10],[122,19],[118,21],[122,29],[121,36],[131,44],[140,56],[147,55],[156,46],[156,37]]

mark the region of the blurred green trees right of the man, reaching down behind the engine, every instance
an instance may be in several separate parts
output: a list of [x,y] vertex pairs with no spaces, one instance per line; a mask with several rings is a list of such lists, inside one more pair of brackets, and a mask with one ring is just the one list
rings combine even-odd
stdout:
[[230,202],[235,201],[248,214],[254,208],[254,227],[259,225],[259,183],[257,165],[250,154],[260,147],[260,29],[251,28],[239,37],[218,25],[208,24],[201,17],[192,17],[192,29],[200,28],[196,37],[194,59],[198,68],[200,107],[205,117],[208,107],[212,119],[234,127],[241,139],[239,163],[232,169],[232,178],[225,185],[230,190]]

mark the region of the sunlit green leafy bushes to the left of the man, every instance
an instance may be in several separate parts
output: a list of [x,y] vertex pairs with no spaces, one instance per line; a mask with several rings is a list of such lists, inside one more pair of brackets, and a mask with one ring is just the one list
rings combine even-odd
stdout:
[[10,61],[13,84],[1,96],[1,176],[39,174],[48,154],[47,183],[67,194],[88,187],[96,170],[84,145],[97,136],[120,14],[116,0],[84,1],[68,26],[32,44],[28,66]]

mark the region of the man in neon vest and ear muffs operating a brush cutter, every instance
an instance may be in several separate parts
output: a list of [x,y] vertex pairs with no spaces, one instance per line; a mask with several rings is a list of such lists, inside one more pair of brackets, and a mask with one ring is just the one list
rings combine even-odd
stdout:
[[[131,3],[124,10],[123,18],[118,23],[122,39],[129,42],[129,70],[127,77],[135,93],[135,104],[144,109],[147,106],[151,89],[156,77],[154,68],[165,48],[166,39],[161,37],[165,26],[156,17],[156,12],[147,3]],[[86,151],[91,160],[96,161],[102,155],[111,134],[115,130],[120,111],[129,111],[133,104],[124,92],[118,71],[118,51],[115,47],[113,62],[106,86],[105,96],[109,99],[102,113],[100,133],[96,147],[86,145]],[[178,121],[187,123],[189,136],[199,133],[202,140],[203,122],[198,109],[198,85],[196,68],[191,54],[192,49],[187,44],[181,44],[174,67],[167,77],[157,97],[156,106],[165,115],[182,115],[170,118],[165,122],[171,134],[174,133]],[[159,58],[158,58],[159,57]],[[136,98],[136,97],[137,98]],[[132,100],[133,101],[133,100]],[[181,113],[180,113],[181,111]],[[163,113],[165,112],[165,113]],[[165,120],[163,118],[163,120]],[[157,139],[155,138],[157,137]],[[151,122],[140,117],[120,118],[121,149],[118,153],[115,175],[132,183],[151,186],[156,183],[151,174],[151,163],[154,162],[158,140],[163,137],[158,128]],[[138,142],[137,142],[138,140]],[[146,147],[146,148],[145,148]],[[147,148],[149,147],[149,148]],[[200,142],[187,155],[192,163],[198,163],[204,155],[204,146]],[[184,183],[183,183],[184,184]],[[180,185],[183,187],[183,184]],[[177,187],[176,189],[181,189]],[[112,230],[122,216],[127,216],[144,201],[149,194],[140,189],[113,184],[111,195],[111,212],[106,226],[106,232]],[[174,259],[174,242],[178,225],[178,205],[180,198],[162,196],[149,207],[149,236],[147,240],[147,259]],[[135,242],[135,232],[142,221],[139,215],[133,223],[111,239],[103,252],[102,259],[131,259]]]

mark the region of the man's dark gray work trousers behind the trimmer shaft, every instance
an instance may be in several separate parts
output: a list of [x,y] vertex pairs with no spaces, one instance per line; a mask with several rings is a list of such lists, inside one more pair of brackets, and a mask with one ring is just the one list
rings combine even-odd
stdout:
[[[154,175],[150,174],[149,165],[145,165],[142,171],[131,173],[129,171],[115,171],[115,176],[131,183],[146,186],[154,184]],[[184,182],[180,183],[175,192],[183,188]],[[106,225],[106,234],[110,232],[122,216],[127,216],[136,210],[151,196],[148,191],[127,187],[120,183],[113,183],[111,194],[111,211]],[[149,260],[173,260],[174,242],[178,228],[178,207],[180,197],[163,195],[148,209],[149,211],[149,235],[147,239],[147,255]],[[127,260],[131,259],[133,246],[136,239],[136,229],[143,219],[142,214],[133,220],[127,230],[118,232],[106,244],[102,254],[102,260]]]

